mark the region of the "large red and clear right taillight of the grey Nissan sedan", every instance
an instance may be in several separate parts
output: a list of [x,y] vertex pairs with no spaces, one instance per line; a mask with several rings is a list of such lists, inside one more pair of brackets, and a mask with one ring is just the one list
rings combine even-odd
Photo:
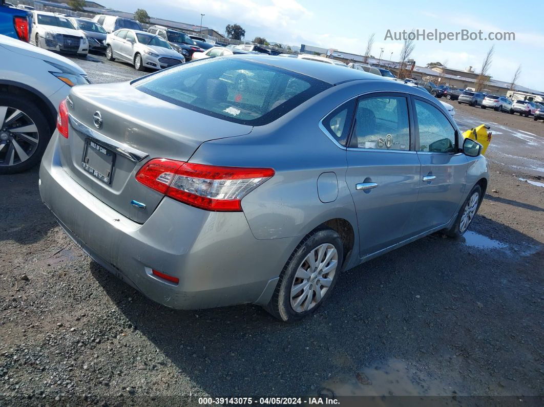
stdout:
[[136,179],[164,195],[209,211],[242,211],[242,198],[274,176],[272,168],[218,167],[156,158]]

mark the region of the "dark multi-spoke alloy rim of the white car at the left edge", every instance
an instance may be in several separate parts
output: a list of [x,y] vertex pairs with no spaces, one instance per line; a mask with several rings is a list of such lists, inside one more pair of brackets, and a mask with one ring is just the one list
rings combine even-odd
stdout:
[[38,127],[26,113],[0,106],[0,166],[28,160],[38,148],[39,140]]

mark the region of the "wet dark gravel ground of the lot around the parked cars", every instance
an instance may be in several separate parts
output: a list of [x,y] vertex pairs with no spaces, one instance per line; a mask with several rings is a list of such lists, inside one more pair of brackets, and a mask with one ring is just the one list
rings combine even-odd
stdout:
[[[94,82],[138,76],[92,59],[77,62]],[[532,119],[455,108],[465,122],[544,133]],[[493,154],[465,237],[431,235],[344,272],[330,302],[296,324],[254,305],[153,303],[63,233],[40,201],[37,168],[1,177],[0,404],[186,405],[205,395],[323,392],[540,402],[544,188],[518,180],[538,180],[523,172],[526,158],[520,170],[491,145]]]

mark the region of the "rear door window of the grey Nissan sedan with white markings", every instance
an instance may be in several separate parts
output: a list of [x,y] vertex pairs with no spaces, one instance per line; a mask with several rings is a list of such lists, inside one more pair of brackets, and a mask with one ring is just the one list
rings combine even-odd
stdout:
[[410,150],[406,98],[376,96],[359,99],[350,147]]

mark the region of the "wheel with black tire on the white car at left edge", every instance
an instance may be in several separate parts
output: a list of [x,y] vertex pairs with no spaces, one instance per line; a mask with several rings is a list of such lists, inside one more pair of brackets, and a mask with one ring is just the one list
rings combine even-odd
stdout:
[[[0,93],[0,108],[7,107],[5,118],[0,122],[0,138],[4,147],[0,150],[0,174],[26,171],[38,164],[51,139],[51,129],[42,111],[23,96]],[[20,113],[8,122],[15,110]],[[6,122],[4,122],[6,120]],[[36,131],[18,132],[13,129],[27,127]],[[9,130],[12,130],[11,132]],[[35,141],[30,141],[35,139]]]

